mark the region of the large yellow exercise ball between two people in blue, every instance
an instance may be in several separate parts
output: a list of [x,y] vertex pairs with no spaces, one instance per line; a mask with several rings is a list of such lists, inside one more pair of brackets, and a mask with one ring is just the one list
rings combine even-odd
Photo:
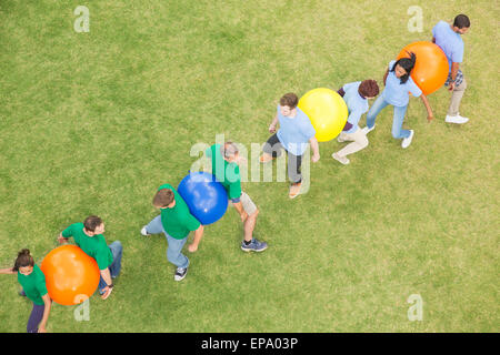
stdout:
[[342,97],[326,88],[308,91],[298,105],[311,120],[318,142],[328,142],[339,135],[349,115]]

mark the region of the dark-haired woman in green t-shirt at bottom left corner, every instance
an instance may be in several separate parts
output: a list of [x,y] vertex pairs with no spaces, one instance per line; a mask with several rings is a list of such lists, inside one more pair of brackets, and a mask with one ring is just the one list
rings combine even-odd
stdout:
[[14,266],[0,270],[0,274],[18,274],[18,281],[22,286],[20,295],[33,302],[33,310],[27,325],[28,333],[46,333],[52,301],[47,292],[46,275],[34,264],[30,251],[27,248],[20,251]]

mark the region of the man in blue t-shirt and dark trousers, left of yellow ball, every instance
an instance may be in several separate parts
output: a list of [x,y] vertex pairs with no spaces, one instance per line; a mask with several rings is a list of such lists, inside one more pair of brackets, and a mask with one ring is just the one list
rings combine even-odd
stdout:
[[267,163],[281,155],[281,150],[288,152],[288,176],[291,182],[289,197],[294,199],[300,193],[302,175],[300,165],[302,155],[311,143],[312,162],[320,159],[319,144],[316,139],[316,130],[307,114],[297,104],[299,98],[294,93],[287,93],[280,99],[277,113],[269,125],[269,132],[276,132],[276,125],[280,122],[280,129],[271,135],[263,146],[263,154],[260,156],[261,163]]

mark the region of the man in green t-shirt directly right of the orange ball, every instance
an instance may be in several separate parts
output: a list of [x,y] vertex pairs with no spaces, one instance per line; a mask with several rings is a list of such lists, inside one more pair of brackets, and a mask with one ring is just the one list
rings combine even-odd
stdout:
[[113,290],[112,278],[120,274],[121,256],[123,247],[120,241],[108,245],[102,235],[104,233],[104,222],[97,215],[91,215],[83,223],[73,223],[59,234],[58,242],[67,243],[69,237],[74,239],[74,243],[90,257],[93,257],[101,272],[99,281],[99,293],[106,300]]

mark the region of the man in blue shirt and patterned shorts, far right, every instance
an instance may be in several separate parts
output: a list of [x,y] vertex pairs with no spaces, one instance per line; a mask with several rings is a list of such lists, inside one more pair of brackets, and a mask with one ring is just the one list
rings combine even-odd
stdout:
[[463,61],[463,41],[461,34],[464,34],[470,28],[470,20],[464,14],[454,18],[453,24],[439,21],[432,29],[432,42],[438,44],[448,58],[450,72],[444,83],[448,90],[452,91],[450,109],[446,118],[448,123],[462,124],[469,121],[459,114],[460,101],[467,88],[466,79],[459,69]]

